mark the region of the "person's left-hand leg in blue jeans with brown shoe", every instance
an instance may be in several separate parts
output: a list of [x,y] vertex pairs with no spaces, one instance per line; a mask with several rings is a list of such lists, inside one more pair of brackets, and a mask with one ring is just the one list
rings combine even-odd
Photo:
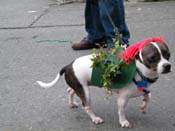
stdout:
[[105,32],[100,20],[98,0],[86,0],[85,30],[88,34],[87,37],[79,43],[73,44],[74,50],[98,48],[98,44],[104,46]]

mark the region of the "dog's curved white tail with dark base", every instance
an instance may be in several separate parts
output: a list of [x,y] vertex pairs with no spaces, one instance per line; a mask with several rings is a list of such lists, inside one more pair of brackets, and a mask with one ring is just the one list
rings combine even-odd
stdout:
[[44,83],[42,81],[37,81],[37,83],[43,88],[50,88],[53,85],[55,85],[57,81],[59,80],[60,76],[62,76],[65,73],[65,69],[66,69],[66,66],[63,67],[60,72],[58,72],[56,78],[52,82]]

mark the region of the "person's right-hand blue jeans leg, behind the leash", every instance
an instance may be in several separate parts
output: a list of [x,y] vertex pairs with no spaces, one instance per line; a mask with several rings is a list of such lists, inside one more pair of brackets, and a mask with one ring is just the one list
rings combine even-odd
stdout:
[[105,30],[105,36],[109,47],[113,47],[114,43],[112,38],[115,38],[114,27],[109,20],[108,14],[112,18],[115,26],[118,28],[119,33],[122,35],[122,40],[128,44],[130,33],[125,23],[125,13],[123,0],[99,0],[100,18]]

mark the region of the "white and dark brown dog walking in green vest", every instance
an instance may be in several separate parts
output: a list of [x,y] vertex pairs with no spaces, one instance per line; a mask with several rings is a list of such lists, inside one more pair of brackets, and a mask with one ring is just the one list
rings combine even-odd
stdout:
[[[122,127],[129,128],[131,124],[126,119],[125,108],[129,98],[143,96],[144,101],[141,105],[141,111],[146,112],[148,103],[150,101],[150,93],[148,88],[144,91],[138,90],[135,83],[137,80],[144,80],[148,82],[148,85],[155,82],[160,74],[165,74],[171,71],[171,64],[169,62],[170,51],[166,44],[162,44],[161,41],[148,41],[142,49],[135,55],[135,64],[137,72],[135,73],[134,81],[121,89],[112,89],[118,95],[118,115],[119,123]],[[129,46],[130,47],[130,46]],[[129,48],[128,47],[128,48]],[[92,122],[99,124],[103,122],[101,117],[94,114],[91,107],[90,88],[91,75],[92,75],[92,55],[82,56],[75,59],[69,65],[66,65],[57,74],[56,78],[50,83],[43,83],[37,81],[37,83],[44,88],[53,86],[60,78],[65,74],[65,80],[70,86],[67,91],[69,93],[69,104],[71,107],[77,107],[73,97],[76,94],[82,101],[83,107],[86,113],[92,119]]]

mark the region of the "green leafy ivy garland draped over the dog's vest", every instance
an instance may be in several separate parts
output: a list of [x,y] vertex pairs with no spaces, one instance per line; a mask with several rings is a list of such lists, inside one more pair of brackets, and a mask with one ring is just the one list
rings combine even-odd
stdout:
[[116,55],[117,57],[117,55],[124,50],[117,39],[113,39],[113,41],[115,46],[112,49],[93,49],[93,57],[91,59],[93,61],[92,68],[100,65],[102,69],[105,70],[102,75],[102,81],[107,95],[109,94],[113,78],[121,74],[120,69],[122,66],[126,66],[126,63],[122,59],[115,63],[110,60],[110,56]]

